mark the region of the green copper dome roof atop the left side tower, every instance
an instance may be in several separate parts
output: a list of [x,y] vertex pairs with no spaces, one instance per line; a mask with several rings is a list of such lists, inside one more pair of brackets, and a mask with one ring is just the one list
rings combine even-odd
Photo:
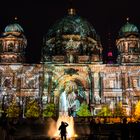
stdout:
[[24,30],[19,24],[14,23],[7,25],[4,32],[24,32]]

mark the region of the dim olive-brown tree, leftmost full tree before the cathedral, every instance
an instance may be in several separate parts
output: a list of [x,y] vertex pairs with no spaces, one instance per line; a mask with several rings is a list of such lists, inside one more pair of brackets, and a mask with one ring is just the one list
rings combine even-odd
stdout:
[[20,115],[20,108],[17,105],[16,101],[12,101],[8,108],[6,109],[7,117],[17,118]]

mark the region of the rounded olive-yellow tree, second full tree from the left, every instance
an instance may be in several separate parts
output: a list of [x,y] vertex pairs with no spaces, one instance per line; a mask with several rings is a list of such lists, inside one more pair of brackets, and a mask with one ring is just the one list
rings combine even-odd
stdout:
[[27,103],[25,116],[27,118],[38,118],[41,114],[40,106],[37,101],[32,100]]

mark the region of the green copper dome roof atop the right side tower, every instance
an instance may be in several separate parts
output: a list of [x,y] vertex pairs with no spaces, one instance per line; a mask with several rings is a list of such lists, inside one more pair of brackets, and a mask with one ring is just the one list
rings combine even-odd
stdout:
[[139,33],[139,30],[134,24],[127,22],[124,26],[121,27],[119,36],[125,36],[125,33]]

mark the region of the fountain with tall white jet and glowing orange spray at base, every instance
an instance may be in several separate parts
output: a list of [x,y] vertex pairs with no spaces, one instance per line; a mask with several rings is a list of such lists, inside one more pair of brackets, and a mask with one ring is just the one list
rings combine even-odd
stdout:
[[69,108],[69,104],[67,101],[67,94],[66,91],[62,92],[62,94],[60,95],[60,99],[59,99],[59,117],[57,122],[55,122],[54,120],[49,121],[50,123],[50,127],[49,127],[49,131],[48,131],[48,136],[51,138],[60,138],[60,131],[59,126],[61,125],[61,122],[66,122],[68,123],[68,127],[66,128],[67,130],[67,138],[68,139],[74,139],[75,137],[75,132],[74,132],[74,119],[72,116],[68,115],[68,108]]

